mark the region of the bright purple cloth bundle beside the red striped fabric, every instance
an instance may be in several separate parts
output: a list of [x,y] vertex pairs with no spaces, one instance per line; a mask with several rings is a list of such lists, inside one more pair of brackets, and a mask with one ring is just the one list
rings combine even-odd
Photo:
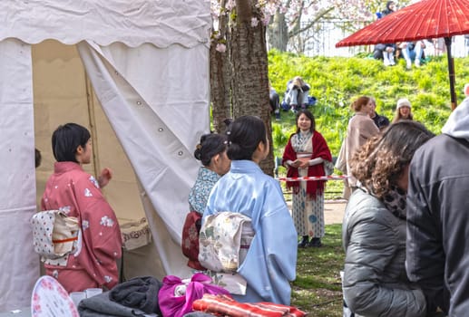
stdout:
[[221,293],[230,296],[224,288],[210,284],[210,276],[201,273],[192,275],[191,282],[187,284],[186,293],[182,296],[174,294],[176,287],[184,285],[178,276],[165,276],[162,283],[158,299],[163,317],[182,317],[187,312],[192,312],[192,303],[202,298],[204,293],[215,295]]

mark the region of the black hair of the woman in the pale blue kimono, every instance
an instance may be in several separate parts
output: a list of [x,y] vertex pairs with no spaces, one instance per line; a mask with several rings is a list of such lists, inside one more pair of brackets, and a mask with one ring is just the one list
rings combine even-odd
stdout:
[[267,145],[266,125],[259,117],[239,117],[231,122],[227,135],[227,155],[231,160],[252,160],[252,155],[258,148],[259,142]]

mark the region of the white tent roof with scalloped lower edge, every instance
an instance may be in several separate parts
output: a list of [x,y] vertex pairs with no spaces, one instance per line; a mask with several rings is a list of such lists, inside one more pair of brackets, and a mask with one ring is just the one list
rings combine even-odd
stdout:
[[208,45],[210,1],[199,0],[2,0],[0,41],[83,40],[136,47]]

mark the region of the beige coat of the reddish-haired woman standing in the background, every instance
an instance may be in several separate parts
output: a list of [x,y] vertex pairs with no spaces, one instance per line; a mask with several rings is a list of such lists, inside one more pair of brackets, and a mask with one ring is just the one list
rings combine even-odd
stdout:
[[375,122],[365,112],[357,112],[348,121],[346,140],[348,186],[355,187],[357,185],[357,178],[354,178],[350,173],[350,159],[368,139],[373,138],[378,133],[379,129],[376,127]]

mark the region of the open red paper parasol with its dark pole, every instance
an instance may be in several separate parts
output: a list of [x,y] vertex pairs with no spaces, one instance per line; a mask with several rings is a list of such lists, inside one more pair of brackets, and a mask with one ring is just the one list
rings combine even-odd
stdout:
[[336,44],[336,47],[445,38],[451,105],[456,106],[451,38],[469,34],[469,0],[422,0],[388,14]]

